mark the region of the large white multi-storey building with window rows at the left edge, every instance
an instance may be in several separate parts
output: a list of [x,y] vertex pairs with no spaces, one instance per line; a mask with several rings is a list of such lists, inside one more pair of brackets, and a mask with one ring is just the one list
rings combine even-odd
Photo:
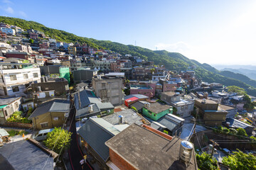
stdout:
[[40,82],[38,64],[0,63],[0,95],[24,96],[23,92],[32,82]]

